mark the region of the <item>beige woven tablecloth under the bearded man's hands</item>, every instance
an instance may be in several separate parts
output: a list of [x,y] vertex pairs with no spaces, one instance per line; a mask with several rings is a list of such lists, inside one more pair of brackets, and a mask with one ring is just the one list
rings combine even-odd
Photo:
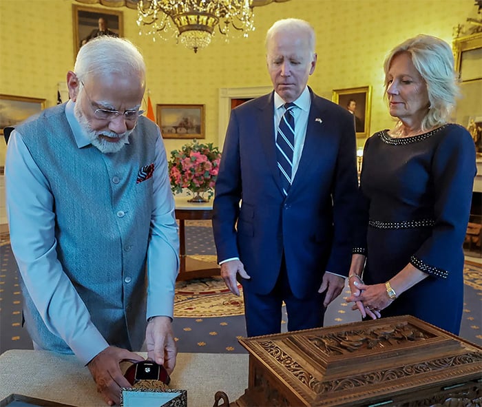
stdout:
[[[248,386],[248,359],[248,355],[179,353],[169,387],[187,390],[189,407],[213,406],[218,390],[235,401]],[[106,406],[88,369],[74,355],[46,351],[0,355],[0,400],[12,393],[78,407]]]

